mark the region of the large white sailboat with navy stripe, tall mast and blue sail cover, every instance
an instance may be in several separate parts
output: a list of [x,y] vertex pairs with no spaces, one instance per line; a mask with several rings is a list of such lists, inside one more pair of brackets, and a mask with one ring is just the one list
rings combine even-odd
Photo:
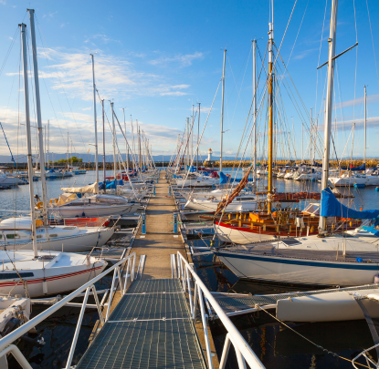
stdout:
[[379,239],[376,228],[363,227],[363,237],[359,231],[336,235],[326,229],[328,217],[376,219],[379,215],[379,210],[355,211],[345,207],[328,188],[337,5],[338,0],[332,0],[319,234],[217,248],[215,254],[239,277],[349,286],[372,283],[377,274]]

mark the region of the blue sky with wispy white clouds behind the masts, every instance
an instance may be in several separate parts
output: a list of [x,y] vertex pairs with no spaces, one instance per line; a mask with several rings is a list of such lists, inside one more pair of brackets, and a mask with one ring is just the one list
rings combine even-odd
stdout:
[[[245,151],[247,157],[251,155],[251,145],[246,146],[253,97],[251,40],[258,40],[259,74],[268,43],[270,1],[0,0],[0,122],[14,155],[26,153],[18,25],[24,22],[30,31],[27,8],[36,11],[41,110],[43,124],[46,125],[47,120],[50,122],[50,151],[66,152],[67,144],[71,146],[72,142],[74,152],[94,153],[89,55],[94,54],[96,87],[104,99],[106,116],[111,120],[111,100],[122,127],[125,113],[127,137],[131,137],[132,118],[133,128],[138,124],[145,132],[154,155],[171,155],[186,118],[191,117],[193,106],[196,109],[200,102],[201,129],[209,114],[200,153],[204,157],[211,148],[218,156],[219,82],[226,48],[224,154],[236,155],[244,137],[242,152]],[[299,159],[312,155],[318,159],[320,156],[327,67],[320,70],[317,67],[328,57],[330,14],[331,0],[274,1],[275,46],[287,66],[285,69],[278,57],[278,157]],[[336,62],[332,154],[336,153],[338,158],[363,156],[364,85],[368,96],[367,157],[379,157],[376,150],[379,143],[379,24],[375,22],[378,16],[376,0],[339,0],[336,54],[356,42],[359,45]],[[29,69],[32,70],[30,60],[29,56]],[[267,60],[263,65],[267,71]],[[257,92],[260,156],[265,155],[267,146],[267,99],[262,97],[266,86],[265,70],[260,73]],[[29,89],[33,150],[36,152],[32,74]],[[99,100],[97,115],[102,153]],[[317,143],[309,135],[311,115]],[[107,120],[105,129],[106,153],[111,154],[112,138]],[[125,142],[120,130],[118,143],[124,153]],[[0,155],[8,154],[0,132]]]

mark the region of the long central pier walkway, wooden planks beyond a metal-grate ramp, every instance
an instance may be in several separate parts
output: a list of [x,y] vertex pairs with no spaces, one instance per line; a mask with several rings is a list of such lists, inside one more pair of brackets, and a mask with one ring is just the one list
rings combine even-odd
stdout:
[[[199,297],[193,300],[197,291],[179,253],[192,260],[182,236],[174,233],[174,210],[160,171],[145,210],[146,231],[140,224],[132,245],[139,261],[136,280],[125,294],[115,293],[109,319],[102,328],[96,324],[77,368],[219,367],[210,329],[196,320]],[[206,321],[204,305],[202,313]]]

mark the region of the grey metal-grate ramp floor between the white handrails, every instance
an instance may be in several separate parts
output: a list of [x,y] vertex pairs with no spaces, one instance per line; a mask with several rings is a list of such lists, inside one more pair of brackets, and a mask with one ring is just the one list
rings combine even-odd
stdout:
[[205,367],[176,278],[132,282],[77,365],[77,369]]

